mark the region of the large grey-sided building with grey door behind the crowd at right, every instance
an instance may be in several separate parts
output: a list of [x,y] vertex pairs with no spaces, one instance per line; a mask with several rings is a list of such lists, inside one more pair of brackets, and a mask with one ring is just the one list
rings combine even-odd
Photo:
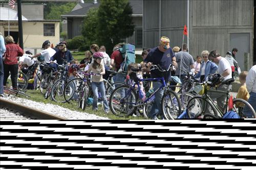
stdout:
[[215,49],[225,56],[237,47],[239,65],[248,70],[253,60],[256,62],[253,5],[255,9],[252,0],[143,1],[143,47],[157,46],[161,36],[169,37],[172,47],[181,46],[183,28],[187,25],[189,41],[185,36],[184,42],[188,42],[194,58],[203,50]]

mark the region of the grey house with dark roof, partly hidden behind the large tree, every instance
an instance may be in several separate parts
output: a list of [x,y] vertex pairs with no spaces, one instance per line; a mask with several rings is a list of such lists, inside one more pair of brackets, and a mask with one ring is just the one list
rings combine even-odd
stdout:
[[[142,0],[132,0],[130,4],[133,9],[133,22],[135,25],[134,35],[127,38],[126,41],[135,44],[136,48],[142,47]],[[81,35],[81,26],[86,16],[88,10],[90,8],[98,8],[100,2],[94,1],[94,3],[78,3],[74,9],[65,15],[61,15],[61,17],[67,20],[67,27],[68,31],[68,39],[72,39],[75,36]],[[63,28],[65,30],[66,28]]]

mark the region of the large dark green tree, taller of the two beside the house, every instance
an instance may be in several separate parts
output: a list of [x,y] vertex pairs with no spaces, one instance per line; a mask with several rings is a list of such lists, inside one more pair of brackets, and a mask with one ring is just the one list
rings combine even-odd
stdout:
[[98,43],[105,45],[108,53],[115,44],[134,33],[133,10],[128,0],[105,0],[98,9]]

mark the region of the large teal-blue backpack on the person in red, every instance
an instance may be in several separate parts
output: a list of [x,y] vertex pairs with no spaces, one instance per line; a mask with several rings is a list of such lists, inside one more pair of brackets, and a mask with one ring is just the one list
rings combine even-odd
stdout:
[[132,44],[124,44],[119,47],[119,52],[122,54],[123,62],[121,64],[122,72],[127,73],[127,66],[131,63],[135,63],[135,46]]

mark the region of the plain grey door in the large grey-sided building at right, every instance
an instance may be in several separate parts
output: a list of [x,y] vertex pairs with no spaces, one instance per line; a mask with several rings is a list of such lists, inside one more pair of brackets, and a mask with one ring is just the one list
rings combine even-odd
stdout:
[[[230,46],[229,51],[231,52],[233,48],[238,48],[238,53],[236,54],[236,60],[244,71],[249,63],[245,63],[246,58],[245,53],[250,53],[250,33],[230,33]],[[251,56],[250,56],[251,57]]]

